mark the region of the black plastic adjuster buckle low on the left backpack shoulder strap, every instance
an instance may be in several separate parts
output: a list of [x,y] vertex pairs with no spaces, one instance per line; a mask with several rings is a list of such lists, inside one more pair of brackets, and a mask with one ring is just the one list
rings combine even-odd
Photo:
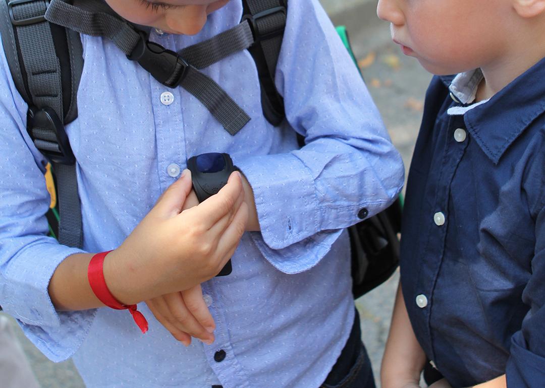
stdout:
[[[35,137],[34,129],[37,128],[52,131],[57,140],[51,141],[51,139],[40,139]],[[51,162],[61,164],[74,164],[76,162],[72,147],[70,147],[70,142],[68,141],[68,136],[64,130],[64,125],[52,108],[29,108],[27,113],[27,131],[32,141],[34,141],[34,144],[36,144],[36,140],[43,140],[58,145],[60,152],[44,150],[38,147],[40,152]]]

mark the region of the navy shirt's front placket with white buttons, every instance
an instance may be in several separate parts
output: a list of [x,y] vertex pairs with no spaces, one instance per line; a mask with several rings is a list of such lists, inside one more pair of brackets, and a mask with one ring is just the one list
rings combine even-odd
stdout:
[[[445,254],[445,241],[449,227],[448,209],[451,183],[468,145],[467,130],[463,116],[452,116],[450,118],[445,135],[447,139],[444,158],[440,162],[440,166],[437,167],[440,169],[440,173],[438,181],[435,183],[435,200],[432,202],[433,208],[429,210],[430,213],[427,215],[429,225],[431,226],[428,229],[430,235],[427,247],[422,255],[423,265],[418,278],[420,289],[416,290],[416,295],[414,295],[414,300],[412,301],[417,306],[416,313],[422,314],[423,317],[421,318],[426,322],[426,336],[429,343],[427,353],[432,358],[432,362],[435,359],[433,332],[431,329],[433,293],[437,286],[437,277]],[[437,361],[435,360],[436,363]]]

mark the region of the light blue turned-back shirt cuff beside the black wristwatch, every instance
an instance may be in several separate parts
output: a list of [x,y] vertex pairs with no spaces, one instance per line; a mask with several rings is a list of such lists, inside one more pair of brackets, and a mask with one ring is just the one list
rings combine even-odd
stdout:
[[252,187],[261,235],[269,248],[288,248],[319,231],[313,176],[293,153],[234,162]]

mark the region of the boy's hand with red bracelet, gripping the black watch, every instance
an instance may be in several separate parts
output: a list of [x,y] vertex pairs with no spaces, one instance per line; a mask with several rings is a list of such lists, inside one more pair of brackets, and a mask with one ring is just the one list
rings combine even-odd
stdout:
[[216,195],[182,211],[190,193],[186,170],[106,257],[106,282],[122,303],[188,290],[213,278],[233,255],[248,218],[240,173],[231,174]]

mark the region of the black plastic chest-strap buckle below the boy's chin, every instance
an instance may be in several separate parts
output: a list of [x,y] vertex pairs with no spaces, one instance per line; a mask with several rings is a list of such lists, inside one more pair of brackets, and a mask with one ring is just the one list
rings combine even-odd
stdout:
[[189,68],[177,53],[150,42],[144,32],[140,33],[138,45],[127,58],[137,61],[153,78],[169,88],[177,88]]

